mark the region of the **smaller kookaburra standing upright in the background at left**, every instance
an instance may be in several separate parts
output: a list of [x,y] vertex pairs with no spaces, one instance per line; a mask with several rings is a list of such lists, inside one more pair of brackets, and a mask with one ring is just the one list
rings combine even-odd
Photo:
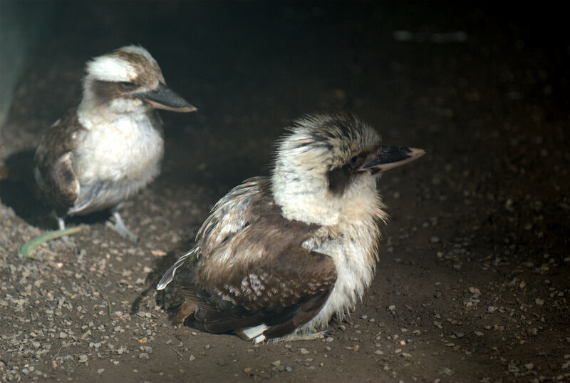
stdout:
[[34,175],[60,229],[66,215],[113,210],[115,229],[135,240],[120,218],[123,201],[160,173],[162,121],[154,110],[196,108],[167,88],[141,46],[88,61],[83,98],[41,138]]

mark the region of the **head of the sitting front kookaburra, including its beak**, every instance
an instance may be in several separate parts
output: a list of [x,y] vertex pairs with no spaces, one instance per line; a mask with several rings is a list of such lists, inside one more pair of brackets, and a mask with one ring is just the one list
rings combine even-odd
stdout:
[[286,218],[309,223],[384,219],[376,178],[425,154],[380,145],[356,116],[305,116],[289,131],[278,143],[271,191]]

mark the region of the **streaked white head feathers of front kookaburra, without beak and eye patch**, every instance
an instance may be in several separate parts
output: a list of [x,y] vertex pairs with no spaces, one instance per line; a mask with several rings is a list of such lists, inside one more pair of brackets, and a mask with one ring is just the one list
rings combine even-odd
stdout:
[[380,143],[373,128],[355,116],[316,114],[299,119],[289,131],[278,142],[271,172],[271,191],[286,218],[333,225],[348,205],[378,210],[375,178],[354,178],[342,195],[330,192],[328,178],[329,170]]

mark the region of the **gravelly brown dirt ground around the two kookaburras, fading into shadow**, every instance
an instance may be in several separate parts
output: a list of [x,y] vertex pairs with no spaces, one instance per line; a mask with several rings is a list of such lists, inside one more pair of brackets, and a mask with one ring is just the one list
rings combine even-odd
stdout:
[[[407,1],[60,6],[2,128],[2,382],[570,382],[562,16]],[[132,43],[199,109],[162,113],[162,175],[123,213],[141,240],[100,214],[68,220],[75,245],[24,259],[26,240],[56,228],[30,184],[39,136],[78,101],[88,58]],[[380,182],[391,220],[363,302],[314,341],[173,327],[157,278],[311,111],[352,111],[384,143],[427,150]]]

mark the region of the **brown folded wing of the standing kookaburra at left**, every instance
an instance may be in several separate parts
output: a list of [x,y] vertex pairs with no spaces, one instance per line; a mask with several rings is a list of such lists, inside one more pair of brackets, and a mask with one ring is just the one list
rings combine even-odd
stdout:
[[48,205],[59,217],[65,215],[79,195],[79,181],[73,171],[73,149],[86,131],[78,121],[76,108],[56,121],[36,149],[36,182]]

